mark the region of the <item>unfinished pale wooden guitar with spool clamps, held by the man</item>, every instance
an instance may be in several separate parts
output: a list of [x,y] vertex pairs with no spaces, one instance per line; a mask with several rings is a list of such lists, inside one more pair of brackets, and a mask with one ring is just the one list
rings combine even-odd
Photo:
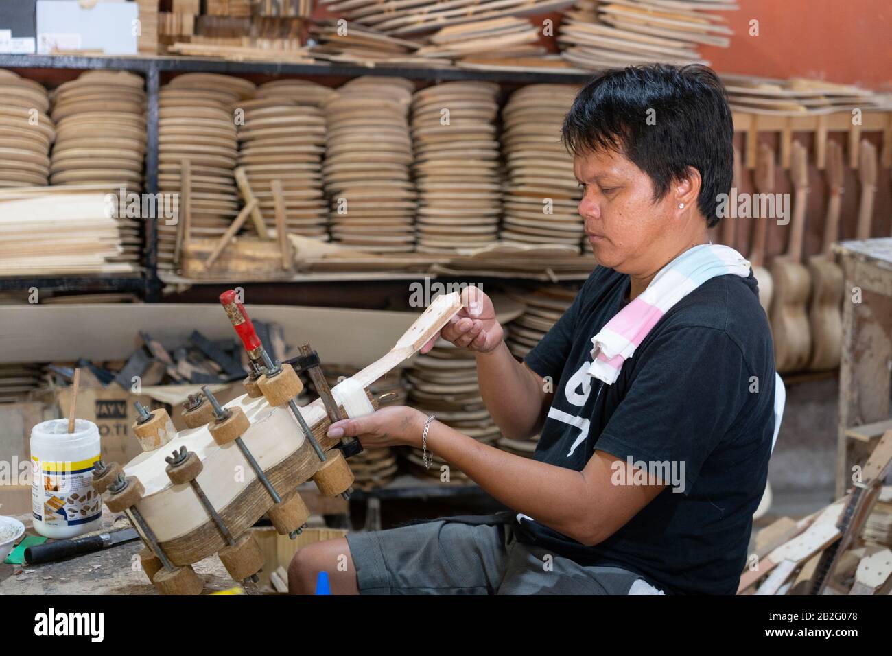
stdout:
[[[437,297],[401,336],[390,352],[369,364],[355,376],[346,378],[333,387],[331,393],[335,403],[346,411],[341,416],[359,416],[373,410],[375,403],[368,403],[366,400],[368,386],[416,353],[460,308],[458,293]],[[268,385],[269,380],[273,378],[267,379],[266,382],[261,379],[260,388]],[[300,391],[300,387],[297,389]],[[288,397],[293,397],[293,394],[288,394]],[[252,527],[258,519],[271,510],[273,513],[270,513],[270,519],[274,524],[277,522],[277,517],[285,517],[289,513],[296,515],[305,511],[301,502],[293,501],[292,494],[295,494],[297,486],[310,478],[316,480],[323,494],[340,494],[342,489],[350,485],[349,471],[343,473],[350,479],[344,486],[335,490],[327,489],[330,486],[323,485],[317,476],[320,470],[326,469],[329,465],[337,464],[338,461],[343,463],[341,452],[335,448],[339,440],[326,436],[331,421],[323,400],[318,398],[298,410],[319,447],[326,453],[325,464],[320,461],[310,440],[301,430],[300,423],[293,415],[293,409],[285,403],[270,404],[268,398],[272,397],[252,398],[244,394],[224,406],[226,410],[232,412],[233,421],[240,419],[244,424],[233,432],[231,439],[229,437],[220,439],[219,429],[216,436],[211,434],[211,428],[218,422],[188,428],[179,431],[160,448],[141,453],[124,467],[124,475],[132,481],[131,487],[136,490],[141,489],[141,494],[136,492],[136,502],[133,504],[128,501],[117,505],[122,505],[124,508],[132,506],[138,511],[145,525],[151,529],[161,551],[174,566],[187,566],[215,552],[221,552],[221,559],[223,556],[227,557],[224,564],[230,563],[227,566],[230,574],[244,568],[247,568],[244,571],[250,570],[251,573],[255,571],[249,562],[252,553],[241,544],[242,536],[250,536],[245,534],[246,529]],[[296,405],[294,407],[297,408]],[[246,419],[242,419],[243,413]],[[201,422],[193,425],[197,423]],[[238,441],[235,441],[236,438]],[[189,456],[190,459],[197,459],[200,464],[200,466],[195,465],[194,470],[197,471],[197,475],[171,476],[170,468],[174,463],[165,461],[165,458],[182,447],[186,448],[187,453],[194,454]],[[244,453],[245,449],[257,461],[263,475],[268,478],[274,491],[281,497],[282,503],[278,504],[277,508],[273,508],[277,504],[274,503],[268,488],[252,469]],[[203,494],[238,544],[230,545],[224,539],[192,481],[201,487]],[[105,501],[111,508],[112,499],[109,494],[106,492]],[[139,522],[134,524],[146,544],[151,544],[152,540],[147,539],[142,527],[138,525]],[[300,522],[297,527],[300,527]],[[285,532],[291,530],[293,529],[288,528]],[[248,562],[251,567],[248,565],[243,567],[244,562]],[[166,576],[173,577],[178,575],[180,570],[165,571],[169,572]],[[156,579],[153,579],[153,582],[159,587]]]

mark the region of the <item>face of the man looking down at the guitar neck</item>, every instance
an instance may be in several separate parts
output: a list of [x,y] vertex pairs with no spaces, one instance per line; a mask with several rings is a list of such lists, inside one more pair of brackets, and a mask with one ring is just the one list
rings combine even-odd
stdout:
[[573,170],[582,187],[579,214],[598,263],[632,276],[662,267],[677,214],[673,193],[654,203],[647,173],[624,154],[578,154]]

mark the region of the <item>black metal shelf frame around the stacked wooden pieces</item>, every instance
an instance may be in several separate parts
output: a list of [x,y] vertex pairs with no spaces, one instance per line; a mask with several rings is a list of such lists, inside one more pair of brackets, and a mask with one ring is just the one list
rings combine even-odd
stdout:
[[[430,82],[483,80],[502,84],[581,84],[591,79],[588,73],[543,73],[524,71],[472,71],[458,68],[416,68],[367,66],[331,63],[229,62],[203,57],[165,56],[82,56],[54,54],[0,54],[4,69],[69,69],[131,71],[145,76],[146,149],[145,193],[158,193],[158,98],[161,73],[223,73],[231,75],[261,74],[270,76],[299,75],[310,78],[355,78],[363,75],[399,76]],[[385,278],[392,278],[387,275]],[[30,286],[65,291],[140,291],[148,302],[161,296],[158,278],[158,230],[153,218],[145,223],[145,274],[141,278],[96,277],[19,277],[0,278],[0,290],[27,289]]]

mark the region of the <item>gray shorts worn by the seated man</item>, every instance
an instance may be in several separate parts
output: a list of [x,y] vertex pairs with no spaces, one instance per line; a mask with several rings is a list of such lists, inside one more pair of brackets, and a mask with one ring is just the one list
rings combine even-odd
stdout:
[[347,534],[359,593],[663,594],[625,569],[521,544],[510,523],[461,519]]

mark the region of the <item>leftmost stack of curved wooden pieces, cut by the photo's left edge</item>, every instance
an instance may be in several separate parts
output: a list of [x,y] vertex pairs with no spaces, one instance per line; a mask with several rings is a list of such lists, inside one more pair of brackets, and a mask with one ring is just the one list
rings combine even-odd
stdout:
[[0,187],[46,185],[55,125],[43,85],[0,69]]

